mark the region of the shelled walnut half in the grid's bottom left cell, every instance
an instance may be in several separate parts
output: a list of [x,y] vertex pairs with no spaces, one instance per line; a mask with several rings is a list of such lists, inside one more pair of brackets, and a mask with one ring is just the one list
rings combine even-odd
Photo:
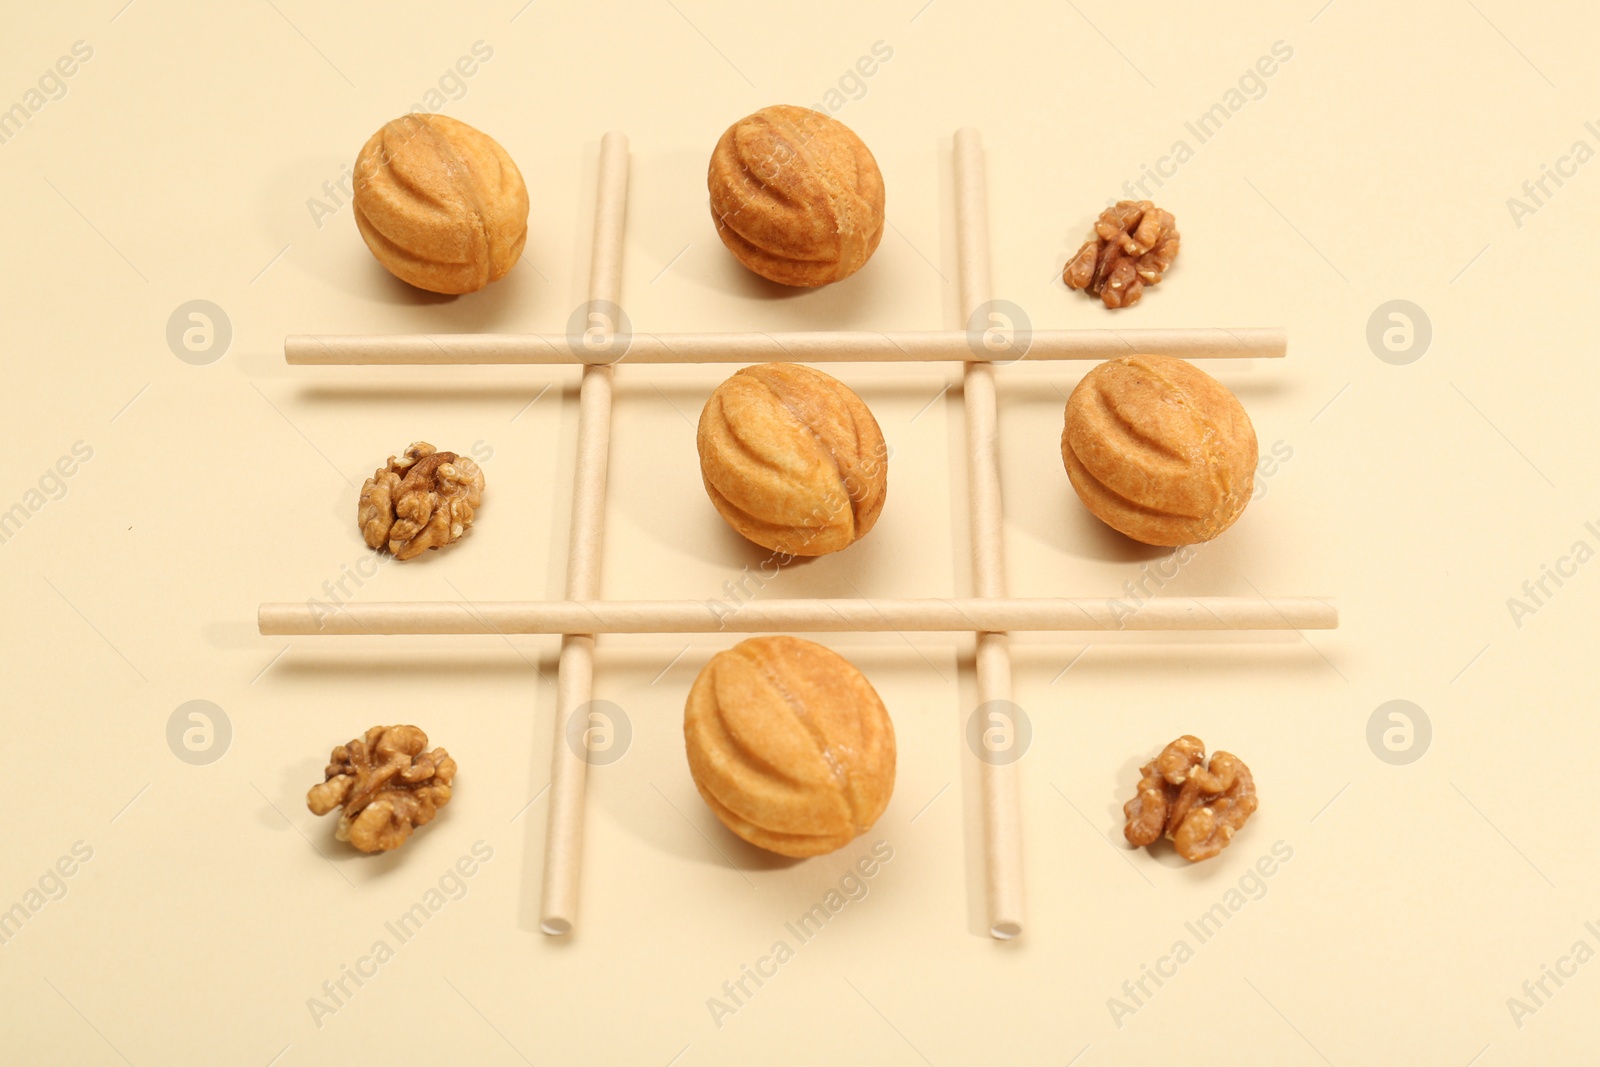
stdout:
[[373,726],[334,749],[323,774],[306,806],[320,816],[344,808],[334,837],[363,853],[387,853],[450,803],[456,761],[443,749],[429,752],[416,726]]

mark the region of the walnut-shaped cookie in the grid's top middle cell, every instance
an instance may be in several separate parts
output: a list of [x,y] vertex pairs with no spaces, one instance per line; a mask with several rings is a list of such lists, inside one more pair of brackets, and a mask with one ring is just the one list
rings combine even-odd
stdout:
[[883,240],[883,174],[845,123],[763,107],[710,154],[710,214],[739,262],[782,285],[848,278]]

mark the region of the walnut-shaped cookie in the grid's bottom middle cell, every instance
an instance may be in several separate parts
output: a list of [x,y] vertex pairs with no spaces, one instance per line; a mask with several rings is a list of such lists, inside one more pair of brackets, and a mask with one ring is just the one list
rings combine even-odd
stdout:
[[784,856],[843,848],[894,790],[894,725],[850,661],[797,637],[717,653],[683,710],[694,787],[723,825]]

